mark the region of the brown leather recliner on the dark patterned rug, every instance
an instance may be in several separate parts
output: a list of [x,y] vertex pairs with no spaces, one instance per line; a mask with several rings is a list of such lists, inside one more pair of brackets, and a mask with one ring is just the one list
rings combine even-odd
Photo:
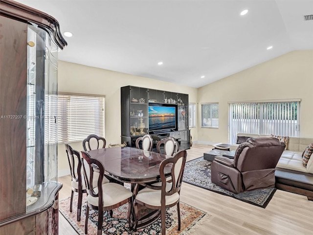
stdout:
[[249,138],[240,144],[234,159],[215,157],[212,183],[232,192],[275,186],[275,167],[285,143],[274,137]]

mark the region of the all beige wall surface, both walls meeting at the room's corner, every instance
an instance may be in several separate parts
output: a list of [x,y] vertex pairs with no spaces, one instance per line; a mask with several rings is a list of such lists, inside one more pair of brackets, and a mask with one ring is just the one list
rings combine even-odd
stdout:
[[[225,65],[225,69],[227,69]],[[105,94],[105,138],[119,143],[120,87],[138,86],[189,94],[197,106],[194,142],[228,142],[228,101],[301,98],[300,137],[313,137],[313,50],[292,51],[268,62],[238,72],[199,89],[130,74],[59,61],[59,91]],[[201,128],[201,103],[219,102],[219,128]],[[82,143],[71,143],[82,150]],[[59,176],[68,174],[64,144],[58,146]]]

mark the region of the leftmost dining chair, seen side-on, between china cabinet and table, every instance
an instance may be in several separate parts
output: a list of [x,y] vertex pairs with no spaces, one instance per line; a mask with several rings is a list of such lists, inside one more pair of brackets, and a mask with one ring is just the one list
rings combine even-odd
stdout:
[[82,199],[83,193],[86,193],[86,184],[82,180],[82,162],[80,160],[79,152],[72,149],[70,145],[65,144],[65,151],[67,152],[67,160],[70,169],[71,188],[72,192],[70,194],[69,211],[72,212],[72,203],[74,192],[78,193],[78,203],[77,203],[77,221],[80,221],[80,214],[82,209]]

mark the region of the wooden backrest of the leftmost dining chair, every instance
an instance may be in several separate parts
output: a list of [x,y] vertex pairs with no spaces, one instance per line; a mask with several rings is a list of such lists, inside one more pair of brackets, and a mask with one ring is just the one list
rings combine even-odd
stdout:
[[70,169],[70,175],[73,181],[78,182],[78,187],[82,187],[82,162],[80,160],[79,152],[72,149],[70,145],[65,144],[65,151],[67,152],[67,160]]

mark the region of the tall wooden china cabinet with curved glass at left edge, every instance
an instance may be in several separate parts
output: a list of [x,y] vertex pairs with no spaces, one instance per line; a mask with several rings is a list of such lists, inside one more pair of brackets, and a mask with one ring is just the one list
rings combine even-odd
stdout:
[[59,24],[0,0],[0,234],[58,234]]

